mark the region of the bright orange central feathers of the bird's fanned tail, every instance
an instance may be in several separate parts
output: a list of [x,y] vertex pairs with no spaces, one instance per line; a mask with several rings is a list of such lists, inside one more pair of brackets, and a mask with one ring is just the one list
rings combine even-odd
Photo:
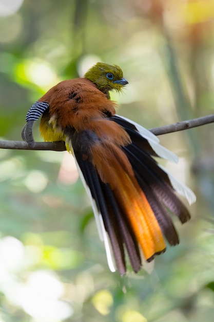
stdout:
[[134,177],[126,155],[119,147],[111,145],[109,149],[109,144],[108,149],[101,145],[93,146],[92,155],[93,164],[102,180],[111,185],[123,216],[128,220],[146,260],[152,259],[156,253],[164,252],[166,245],[161,228]]

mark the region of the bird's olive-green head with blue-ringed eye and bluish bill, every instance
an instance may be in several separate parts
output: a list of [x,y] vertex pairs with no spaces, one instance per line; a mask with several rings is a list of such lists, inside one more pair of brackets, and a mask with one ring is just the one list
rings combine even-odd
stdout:
[[123,87],[128,84],[123,78],[123,71],[119,66],[105,63],[96,63],[84,76],[92,81],[98,89],[109,96],[109,91],[121,92]]

